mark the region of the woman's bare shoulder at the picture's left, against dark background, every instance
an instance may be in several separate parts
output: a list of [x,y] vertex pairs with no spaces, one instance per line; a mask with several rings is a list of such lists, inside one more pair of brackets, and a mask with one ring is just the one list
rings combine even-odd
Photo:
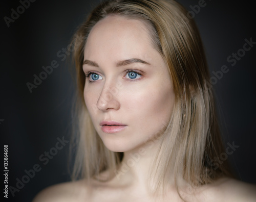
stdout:
[[85,180],[60,183],[40,191],[32,202],[86,201],[88,190]]

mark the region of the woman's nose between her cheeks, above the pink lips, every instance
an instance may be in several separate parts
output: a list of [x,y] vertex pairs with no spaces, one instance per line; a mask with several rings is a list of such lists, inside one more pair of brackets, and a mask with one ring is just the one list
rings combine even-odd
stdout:
[[117,100],[118,89],[104,86],[97,101],[97,108],[103,112],[118,110],[120,103]]

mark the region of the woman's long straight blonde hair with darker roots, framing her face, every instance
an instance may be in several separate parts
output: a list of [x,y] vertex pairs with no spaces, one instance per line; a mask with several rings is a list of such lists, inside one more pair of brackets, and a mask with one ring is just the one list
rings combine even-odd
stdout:
[[175,104],[159,140],[161,147],[154,164],[158,166],[152,171],[158,182],[157,187],[166,187],[173,180],[173,174],[193,186],[210,183],[221,176],[231,176],[226,161],[217,168],[212,164],[212,160],[225,151],[204,49],[195,21],[173,0],[111,0],[102,2],[91,12],[73,39],[78,89],[75,127],[79,129],[73,179],[90,179],[102,171],[115,170],[122,160],[122,153],[111,152],[104,146],[83,99],[84,46],[95,24],[109,15],[145,22],[155,48],[169,67]]

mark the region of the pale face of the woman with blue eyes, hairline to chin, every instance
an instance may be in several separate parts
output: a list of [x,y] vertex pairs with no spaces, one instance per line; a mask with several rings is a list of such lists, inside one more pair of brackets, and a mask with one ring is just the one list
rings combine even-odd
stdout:
[[145,23],[121,16],[99,21],[84,49],[84,100],[105,146],[126,152],[169,121],[174,91]]

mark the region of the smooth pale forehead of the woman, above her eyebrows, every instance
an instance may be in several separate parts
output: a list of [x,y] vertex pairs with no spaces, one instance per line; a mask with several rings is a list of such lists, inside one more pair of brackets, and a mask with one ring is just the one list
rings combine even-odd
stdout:
[[[84,56],[144,53],[153,48],[150,31],[145,22],[123,16],[107,16],[91,30]],[[126,56],[128,57],[128,56]]]

